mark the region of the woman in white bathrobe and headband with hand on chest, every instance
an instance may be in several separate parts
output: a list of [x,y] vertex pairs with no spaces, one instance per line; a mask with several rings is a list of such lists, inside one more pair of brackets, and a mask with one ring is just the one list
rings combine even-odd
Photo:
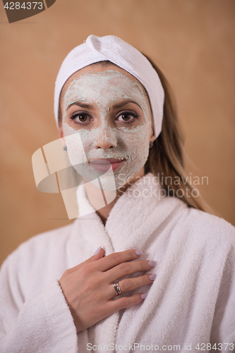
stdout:
[[1,352],[233,351],[234,227],[184,184],[162,73],[91,35],[64,60],[54,107],[80,217],[4,262]]

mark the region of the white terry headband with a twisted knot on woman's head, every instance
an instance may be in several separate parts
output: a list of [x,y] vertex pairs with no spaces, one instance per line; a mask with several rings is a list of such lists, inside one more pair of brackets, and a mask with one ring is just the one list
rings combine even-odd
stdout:
[[109,60],[135,76],[147,91],[152,108],[155,138],[162,131],[164,90],[157,72],[138,49],[115,35],[89,35],[83,44],[68,53],[59,69],[54,90],[54,115],[59,128],[59,96],[66,80],[76,71],[98,61]]

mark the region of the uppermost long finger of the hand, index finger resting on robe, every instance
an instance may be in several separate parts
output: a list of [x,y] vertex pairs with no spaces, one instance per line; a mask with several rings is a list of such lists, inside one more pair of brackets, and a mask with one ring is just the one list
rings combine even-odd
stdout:
[[113,268],[116,265],[119,265],[119,263],[123,262],[128,262],[128,261],[133,261],[136,260],[137,258],[140,257],[140,255],[143,254],[143,252],[139,252],[140,255],[137,255],[135,253],[136,249],[131,249],[131,250],[126,250],[126,251],[121,251],[119,253],[111,253],[108,256],[105,256],[104,258],[101,258],[99,260],[99,263],[97,263],[97,270],[100,271],[107,271],[110,268]]

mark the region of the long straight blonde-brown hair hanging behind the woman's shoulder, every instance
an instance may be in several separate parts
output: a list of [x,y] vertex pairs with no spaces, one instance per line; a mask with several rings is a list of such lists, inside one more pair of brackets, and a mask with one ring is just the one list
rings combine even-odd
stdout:
[[[145,174],[152,172],[156,177],[160,177],[162,188],[167,195],[179,197],[188,207],[212,212],[212,209],[199,194],[197,194],[197,197],[193,196],[193,188],[187,181],[184,165],[186,157],[184,150],[185,139],[179,123],[176,102],[171,87],[157,65],[146,55],[145,57],[157,71],[164,88],[162,131],[153,142],[152,148],[150,148],[150,153],[145,163]],[[177,181],[177,183],[172,181]]]

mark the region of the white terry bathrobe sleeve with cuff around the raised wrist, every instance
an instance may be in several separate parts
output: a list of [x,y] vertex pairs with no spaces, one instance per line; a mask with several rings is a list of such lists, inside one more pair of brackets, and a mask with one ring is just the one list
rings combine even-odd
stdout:
[[76,327],[58,280],[25,300],[17,261],[11,254],[0,272],[0,352],[76,353]]

